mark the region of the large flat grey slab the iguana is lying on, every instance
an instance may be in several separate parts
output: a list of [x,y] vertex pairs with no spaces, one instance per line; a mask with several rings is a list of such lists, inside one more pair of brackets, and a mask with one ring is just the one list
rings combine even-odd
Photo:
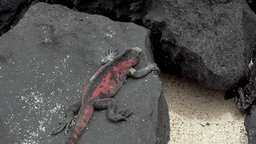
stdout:
[[[143,49],[135,67],[141,69],[153,61],[148,29],[61,5],[33,5],[0,37],[0,143],[65,143],[68,136],[50,132],[80,98],[104,52],[136,46]],[[114,99],[118,109],[135,112],[130,123],[96,111],[78,144],[167,143],[168,108],[158,76],[128,78]]]

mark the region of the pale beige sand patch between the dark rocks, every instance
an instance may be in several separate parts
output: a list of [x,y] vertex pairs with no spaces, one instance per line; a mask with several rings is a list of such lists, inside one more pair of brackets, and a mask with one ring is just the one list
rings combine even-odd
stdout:
[[224,91],[205,88],[195,80],[160,73],[169,107],[172,143],[248,143],[245,115]]

